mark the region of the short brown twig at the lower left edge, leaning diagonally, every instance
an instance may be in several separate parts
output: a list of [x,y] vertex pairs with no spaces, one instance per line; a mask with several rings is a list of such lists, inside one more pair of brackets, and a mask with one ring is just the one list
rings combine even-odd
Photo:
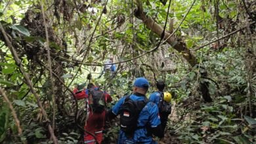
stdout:
[[20,128],[20,120],[18,120],[16,112],[15,112],[14,108],[12,107],[12,103],[11,103],[11,101],[9,101],[8,97],[5,94],[5,91],[1,88],[1,86],[0,86],[0,94],[3,96],[3,99],[5,99],[5,101],[9,105],[9,108],[12,111],[12,116],[13,116],[14,121],[16,123],[16,126],[18,128],[18,134],[21,135],[22,134],[22,129]]

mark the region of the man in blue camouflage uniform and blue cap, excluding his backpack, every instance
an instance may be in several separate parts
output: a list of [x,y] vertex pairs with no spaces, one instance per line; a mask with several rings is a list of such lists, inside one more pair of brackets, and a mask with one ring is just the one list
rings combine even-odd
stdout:
[[[129,96],[133,101],[144,101],[146,99],[146,92],[149,88],[149,82],[144,77],[137,78],[133,84],[133,94]],[[119,115],[119,110],[123,105],[126,97],[123,97],[117,101],[116,105],[112,109],[108,110],[107,118],[111,120]],[[156,143],[153,139],[153,135],[157,137],[163,137],[163,130],[161,128],[160,115],[158,112],[158,106],[148,101],[143,109],[139,113],[137,120],[137,129],[133,133],[133,136],[127,137],[123,130],[119,131],[118,143]]]

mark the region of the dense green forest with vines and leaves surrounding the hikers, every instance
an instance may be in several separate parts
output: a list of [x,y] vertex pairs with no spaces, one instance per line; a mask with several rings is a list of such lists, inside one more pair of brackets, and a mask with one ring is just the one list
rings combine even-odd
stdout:
[[0,20],[0,143],[83,143],[74,86],[109,109],[137,77],[172,95],[158,143],[256,143],[256,1],[0,0]]

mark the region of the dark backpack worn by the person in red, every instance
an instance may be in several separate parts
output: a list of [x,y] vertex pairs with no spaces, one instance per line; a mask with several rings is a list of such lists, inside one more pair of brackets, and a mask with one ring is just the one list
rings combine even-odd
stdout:
[[89,89],[89,106],[93,113],[102,113],[105,110],[105,94],[98,88]]

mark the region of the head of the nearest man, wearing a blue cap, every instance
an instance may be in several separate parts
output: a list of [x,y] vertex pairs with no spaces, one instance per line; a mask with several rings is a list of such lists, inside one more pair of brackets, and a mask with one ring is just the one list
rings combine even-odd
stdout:
[[139,77],[133,84],[133,93],[146,94],[149,88],[149,82],[144,77]]

